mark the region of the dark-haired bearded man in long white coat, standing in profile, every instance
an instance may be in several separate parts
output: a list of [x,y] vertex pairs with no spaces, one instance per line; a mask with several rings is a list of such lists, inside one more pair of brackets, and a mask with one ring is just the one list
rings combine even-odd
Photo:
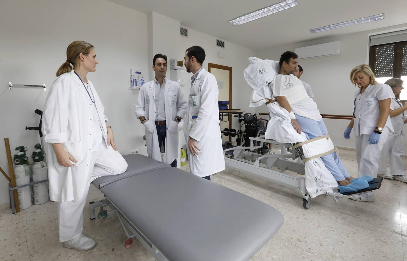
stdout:
[[193,73],[184,123],[190,173],[210,180],[210,175],[225,169],[218,84],[215,77],[202,67],[205,60],[202,47],[189,47],[184,59],[186,71]]

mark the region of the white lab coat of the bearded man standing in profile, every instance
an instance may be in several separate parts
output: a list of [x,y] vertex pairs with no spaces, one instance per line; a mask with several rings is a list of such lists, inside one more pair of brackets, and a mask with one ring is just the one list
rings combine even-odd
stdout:
[[[201,151],[193,156],[188,149],[190,173],[206,177],[225,169],[222,150],[221,129],[219,127],[219,89],[215,77],[202,69],[193,84],[196,96],[188,97],[184,135],[188,145],[189,137],[197,140]],[[192,116],[197,116],[192,119]]]

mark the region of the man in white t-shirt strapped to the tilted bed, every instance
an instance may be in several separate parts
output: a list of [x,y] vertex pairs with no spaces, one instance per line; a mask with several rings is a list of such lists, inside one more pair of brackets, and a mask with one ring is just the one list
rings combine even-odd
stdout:
[[[326,135],[328,131],[319,114],[317,104],[306,93],[301,80],[293,75],[297,60],[297,54],[290,51],[284,52],[280,57],[280,71],[269,86],[274,99],[287,110],[294,129],[299,134],[303,131],[308,139],[312,139]],[[322,156],[321,159],[340,186],[349,186],[349,188],[357,186],[354,181],[350,182],[354,178],[350,177],[336,152]],[[354,188],[353,191],[359,189]]]

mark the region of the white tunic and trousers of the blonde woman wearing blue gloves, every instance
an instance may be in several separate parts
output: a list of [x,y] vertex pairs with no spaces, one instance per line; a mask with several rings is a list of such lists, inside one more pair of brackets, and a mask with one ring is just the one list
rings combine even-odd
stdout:
[[379,101],[394,97],[394,93],[387,84],[370,84],[360,94],[360,89],[355,93],[354,100],[354,135],[356,143],[356,159],[358,163],[358,177],[371,175],[377,177],[379,157],[389,132],[393,131],[390,116],[387,117],[385,127],[377,144],[369,144],[369,137],[376,127],[380,116]]

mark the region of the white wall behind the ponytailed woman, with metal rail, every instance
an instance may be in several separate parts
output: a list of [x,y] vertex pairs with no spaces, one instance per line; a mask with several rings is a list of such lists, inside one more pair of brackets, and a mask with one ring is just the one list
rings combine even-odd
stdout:
[[[12,153],[24,145],[31,158],[39,142],[37,126],[55,73],[66,60],[66,47],[74,40],[95,45],[99,65],[88,74],[105,106],[116,145],[122,154],[145,152],[133,107],[138,91],[127,89],[130,69],[148,72],[147,14],[104,0],[2,1],[0,8],[0,166],[8,173],[4,137]],[[46,84],[42,89],[13,88],[7,83]],[[144,151],[143,151],[144,150]],[[9,202],[7,180],[0,176],[0,204]]]

